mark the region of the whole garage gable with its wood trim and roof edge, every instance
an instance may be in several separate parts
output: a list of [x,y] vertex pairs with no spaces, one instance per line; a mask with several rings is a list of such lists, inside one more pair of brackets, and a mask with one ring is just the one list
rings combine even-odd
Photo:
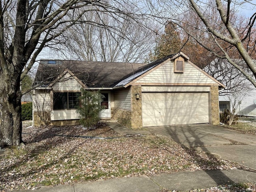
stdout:
[[[174,72],[174,60],[182,57],[184,59],[184,72]],[[136,70],[135,74],[132,74],[122,81],[120,81],[115,87],[129,86],[129,85],[148,85],[148,84],[164,84],[164,85],[178,85],[178,84],[204,84],[213,85],[218,84],[223,86],[216,79],[212,78],[198,66],[189,61],[189,57],[184,53],[173,54],[152,62],[142,68]],[[223,86],[224,87],[224,86]]]

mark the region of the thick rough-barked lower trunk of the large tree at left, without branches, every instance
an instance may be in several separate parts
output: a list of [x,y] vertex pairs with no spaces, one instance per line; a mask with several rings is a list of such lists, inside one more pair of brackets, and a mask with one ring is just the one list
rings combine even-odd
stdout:
[[19,145],[22,142],[21,93],[17,86],[11,96],[0,73],[0,145]]

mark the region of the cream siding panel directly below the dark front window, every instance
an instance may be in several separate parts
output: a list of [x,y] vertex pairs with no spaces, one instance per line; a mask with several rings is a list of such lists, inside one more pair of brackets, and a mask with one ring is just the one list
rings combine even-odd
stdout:
[[79,114],[76,109],[62,109],[62,110],[52,110],[51,120],[70,120],[79,119]]

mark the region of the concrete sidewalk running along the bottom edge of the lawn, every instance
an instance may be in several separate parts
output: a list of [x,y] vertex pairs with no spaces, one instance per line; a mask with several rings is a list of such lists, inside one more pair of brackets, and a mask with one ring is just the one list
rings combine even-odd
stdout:
[[[36,192],[157,192],[159,190],[188,191],[198,188],[255,182],[256,173],[243,170],[208,170],[176,172],[154,176],[135,176],[94,182],[74,183],[72,186],[59,185],[42,187]],[[34,192],[34,190],[22,190]],[[14,191],[18,192],[18,191]]]

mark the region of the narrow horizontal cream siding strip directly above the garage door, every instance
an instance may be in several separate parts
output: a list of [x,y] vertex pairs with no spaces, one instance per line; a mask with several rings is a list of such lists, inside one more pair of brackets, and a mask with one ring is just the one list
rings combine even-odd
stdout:
[[210,86],[142,86],[142,92],[210,92]]

